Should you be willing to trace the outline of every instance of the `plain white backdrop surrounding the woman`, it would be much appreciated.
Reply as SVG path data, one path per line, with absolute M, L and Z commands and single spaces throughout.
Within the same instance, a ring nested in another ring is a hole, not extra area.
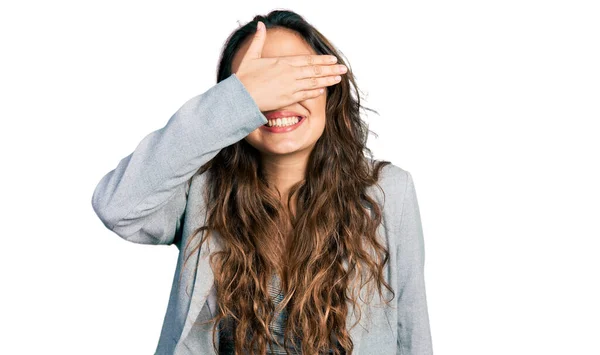
M 600 354 L 595 1 L 0 5 L 4 354 L 152 354 L 178 250 L 106 229 L 102 176 L 291 9 L 347 58 L 413 175 L 437 355 Z

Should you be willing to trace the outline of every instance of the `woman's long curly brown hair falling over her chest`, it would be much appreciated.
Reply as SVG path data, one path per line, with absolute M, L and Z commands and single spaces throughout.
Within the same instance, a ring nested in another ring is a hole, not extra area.
M 267 29 L 295 31 L 317 54 L 335 55 L 338 63 L 346 64 L 304 18 L 275 10 L 255 16 L 228 37 L 217 82 L 232 74 L 233 57 L 255 33 L 258 21 Z M 233 324 L 236 354 L 266 354 L 267 344 L 273 344 L 269 325 L 276 312 L 286 310 L 286 349 L 292 342 L 301 346 L 303 354 L 351 354 L 348 304 L 358 313 L 354 327 L 361 318 L 357 296 L 369 281 L 375 282 L 380 296 L 385 287 L 395 297 L 383 277 L 389 253 L 377 236 L 382 207 L 366 193 L 373 185 L 381 190 L 380 171 L 390 162 L 373 160 L 366 146 L 371 131 L 361 119 L 360 111 L 365 108 L 346 66 L 342 80 L 327 87 L 325 130 L 311 151 L 304 179 L 289 191 L 287 210 L 292 210 L 295 195 L 295 215 L 286 212 L 278 192 L 273 192 L 265 178 L 259 152 L 244 139 L 221 149 L 197 172 L 207 174 L 204 198 L 209 207 L 206 224 L 186 244 L 185 250 L 205 232 L 186 261 L 211 231 L 218 232 L 223 250 L 210 256 L 218 309 L 209 321 L 214 322 L 217 353 L 216 329 L 228 321 Z M 281 228 L 290 223 L 291 236 Z M 289 244 L 283 242 L 288 239 Z M 268 288 L 274 274 L 285 296 L 277 309 Z

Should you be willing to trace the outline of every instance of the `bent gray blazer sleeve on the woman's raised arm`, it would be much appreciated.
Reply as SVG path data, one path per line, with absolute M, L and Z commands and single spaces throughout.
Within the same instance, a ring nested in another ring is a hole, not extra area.
M 173 244 L 180 232 L 191 178 L 224 147 L 267 123 L 232 74 L 189 99 L 167 124 L 145 136 L 92 194 L 103 224 L 139 244 Z

